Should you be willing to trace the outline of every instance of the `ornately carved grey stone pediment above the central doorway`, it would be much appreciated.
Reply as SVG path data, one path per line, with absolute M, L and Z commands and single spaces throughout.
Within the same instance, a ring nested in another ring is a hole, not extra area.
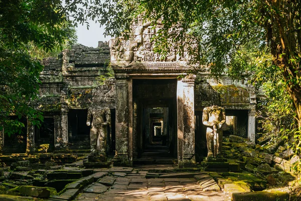
M 129 39 L 123 37 L 111 39 L 109 42 L 111 50 L 111 62 L 181 62 L 188 64 L 190 56 L 188 48 L 184 52 L 177 51 L 171 44 L 170 51 L 167 55 L 160 55 L 154 52 L 155 42 L 154 36 L 162 28 L 161 25 L 157 27 L 150 26 L 150 23 L 142 23 L 142 20 L 137 20 L 132 24 L 132 33 Z M 193 48 L 196 44 L 190 43 Z

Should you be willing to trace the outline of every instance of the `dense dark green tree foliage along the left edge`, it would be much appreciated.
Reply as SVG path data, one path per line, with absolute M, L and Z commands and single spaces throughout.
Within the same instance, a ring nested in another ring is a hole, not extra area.
M 58 3 L 0 1 L 0 129 L 4 125 L 9 135 L 21 132 L 21 118 L 28 118 L 34 125 L 43 120 L 42 114 L 28 104 L 36 97 L 43 70 L 35 59 L 37 52 L 49 52 L 70 37 L 68 19 L 58 10 Z M 18 119 L 10 118 L 12 115 Z

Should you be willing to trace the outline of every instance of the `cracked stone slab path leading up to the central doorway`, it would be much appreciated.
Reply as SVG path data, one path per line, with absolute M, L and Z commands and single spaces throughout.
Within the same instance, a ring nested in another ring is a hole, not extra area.
M 84 188 L 75 200 L 231 200 L 221 190 L 204 191 L 194 178 L 201 172 L 152 173 L 122 167 L 107 171 L 106 176 Z

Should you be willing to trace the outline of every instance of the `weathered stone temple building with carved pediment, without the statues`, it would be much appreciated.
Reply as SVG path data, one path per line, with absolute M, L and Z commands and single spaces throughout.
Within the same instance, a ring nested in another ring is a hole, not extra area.
M 31 103 L 44 113 L 41 128 L 26 122 L 22 135 L 4 136 L 0 149 L 8 153 L 89 149 L 88 108 L 108 107 L 111 129 L 106 152 L 115 151 L 114 164 L 132 166 L 145 158 L 164 158 L 179 167 L 207 155 L 202 111 L 226 110 L 224 134 L 255 142 L 256 94 L 247 80 L 216 80 L 207 69 L 189 74 L 188 53 L 171 49 L 164 58 L 150 39 L 157 29 L 133 26 L 129 40 L 99 42 L 65 50 L 59 58 L 43 60 L 39 99 Z M 99 75 L 111 65 L 114 77 L 100 85 Z M 180 77 L 180 78 L 179 78 Z

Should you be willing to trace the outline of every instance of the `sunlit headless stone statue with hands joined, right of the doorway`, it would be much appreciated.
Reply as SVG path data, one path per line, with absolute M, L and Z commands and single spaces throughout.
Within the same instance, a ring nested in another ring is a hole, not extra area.
M 226 122 L 225 109 L 219 106 L 204 108 L 203 124 L 207 126 L 206 138 L 208 157 L 216 158 L 222 151 L 223 130 Z

